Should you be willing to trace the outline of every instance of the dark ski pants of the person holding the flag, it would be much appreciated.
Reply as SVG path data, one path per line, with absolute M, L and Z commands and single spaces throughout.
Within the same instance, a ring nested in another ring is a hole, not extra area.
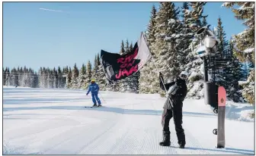
M 176 130 L 176 135 L 178 138 L 178 144 L 181 142 L 186 144 L 185 142 L 185 134 L 184 129 L 182 128 L 182 107 L 174 108 L 174 109 L 164 109 L 162 113 L 162 127 L 163 127 L 163 142 L 170 142 L 170 129 L 169 122 L 171 117 L 174 118 L 174 126 Z

